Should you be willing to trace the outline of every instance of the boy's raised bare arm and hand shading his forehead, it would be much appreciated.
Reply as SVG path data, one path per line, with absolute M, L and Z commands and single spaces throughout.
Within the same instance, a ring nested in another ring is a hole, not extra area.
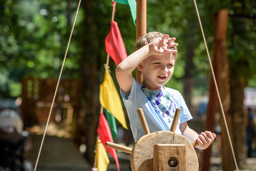
M 169 43 L 175 40 L 175 38 L 168 38 L 168 35 L 164 35 L 159 39 L 147 44 L 139 50 L 133 52 L 127 58 L 123 60 L 116 67 L 116 78 L 120 88 L 124 93 L 129 96 L 132 87 L 131 72 L 148 56 L 151 55 L 164 55 L 166 53 L 177 53 L 177 50 L 172 50 L 170 47 L 178 46 L 177 43 Z

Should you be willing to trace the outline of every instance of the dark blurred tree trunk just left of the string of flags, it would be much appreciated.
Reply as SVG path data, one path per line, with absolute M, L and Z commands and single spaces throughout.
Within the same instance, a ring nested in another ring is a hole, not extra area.
M 94 150 L 97 138 L 97 125 L 100 114 L 100 103 L 99 103 L 99 49 L 98 42 L 104 42 L 104 38 L 99 38 L 96 28 L 95 15 L 93 13 L 91 0 L 84 0 L 83 7 L 86 13 L 84 21 L 84 41 L 83 41 L 83 63 L 82 63 L 82 75 L 83 75 L 83 87 L 85 90 L 86 99 L 86 153 L 85 157 L 94 164 Z

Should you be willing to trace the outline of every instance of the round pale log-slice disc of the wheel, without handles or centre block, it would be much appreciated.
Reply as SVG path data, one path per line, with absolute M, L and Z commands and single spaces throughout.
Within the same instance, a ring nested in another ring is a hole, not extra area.
M 198 171 L 198 158 L 193 146 L 186 137 L 170 131 L 153 132 L 140 137 L 133 145 L 131 168 L 133 171 L 153 170 L 154 144 L 184 144 L 187 146 L 187 169 Z

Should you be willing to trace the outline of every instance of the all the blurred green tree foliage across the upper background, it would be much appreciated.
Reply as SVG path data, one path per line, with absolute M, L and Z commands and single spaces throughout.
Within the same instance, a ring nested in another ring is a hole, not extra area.
M 112 3 L 91 1 L 86 8 L 83 1 L 79 9 L 75 30 L 72 35 L 63 78 L 81 77 L 85 60 L 96 65 L 101 74 L 106 61 L 104 39 L 110 28 Z M 78 1 L 8 0 L 0 2 L 0 97 L 19 96 L 18 86 L 25 75 L 41 78 L 57 78 L 62 66 L 67 42 L 70 36 Z M 238 11 L 239 6 L 246 10 Z M 255 2 L 230 0 L 197 2 L 210 54 L 213 46 L 213 17 L 220 9 L 229 9 L 230 14 L 255 15 Z M 89 10 L 90 9 L 90 10 Z M 159 30 L 176 37 L 178 59 L 168 87 L 182 91 L 185 74 L 187 46 L 195 48 L 193 57 L 194 87 L 208 90 L 209 64 L 202 40 L 200 26 L 193 1 L 147 1 L 147 30 Z M 89 18 L 94 16 L 94 18 Z M 133 25 L 128 5 L 116 5 L 115 21 L 123 36 L 127 54 L 134 51 L 136 26 Z M 91 22 L 91 23 L 88 23 Z M 92 34 L 92 32 L 94 34 Z M 90 33 L 90 34 L 88 34 Z M 249 80 L 249 86 L 256 87 L 255 75 L 255 20 L 230 19 L 228 35 L 228 55 L 231 66 L 242 63 L 241 79 Z M 95 56 L 90 59 L 90 56 Z M 115 63 L 109 61 L 110 70 L 115 71 Z M 103 77 L 100 76 L 101 79 Z

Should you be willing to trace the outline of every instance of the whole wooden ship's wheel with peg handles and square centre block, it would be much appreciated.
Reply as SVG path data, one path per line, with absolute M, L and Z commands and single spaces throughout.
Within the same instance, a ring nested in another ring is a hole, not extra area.
M 107 142 L 106 146 L 131 154 L 133 171 L 143 170 L 180 170 L 198 171 L 198 158 L 194 147 L 197 141 L 190 143 L 185 136 L 174 133 L 180 117 L 180 108 L 174 114 L 170 131 L 149 132 L 142 109 L 137 112 L 145 135 L 133 145 L 127 146 Z

